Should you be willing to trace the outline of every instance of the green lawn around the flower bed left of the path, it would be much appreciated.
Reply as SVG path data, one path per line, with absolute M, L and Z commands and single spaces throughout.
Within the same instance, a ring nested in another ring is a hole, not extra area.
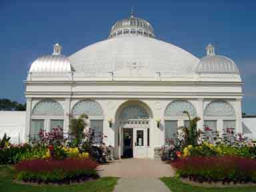
M 97 181 L 87 181 L 81 185 L 62 185 L 62 186 L 31 186 L 13 183 L 13 177 L 15 171 L 13 167 L 8 165 L 0 166 L 0 191 L 5 192 L 78 192 L 78 191 L 90 191 L 90 192 L 109 192 L 113 191 L 114 186 L 117 184 L 117 178 L 114 177 L 102 177 Z

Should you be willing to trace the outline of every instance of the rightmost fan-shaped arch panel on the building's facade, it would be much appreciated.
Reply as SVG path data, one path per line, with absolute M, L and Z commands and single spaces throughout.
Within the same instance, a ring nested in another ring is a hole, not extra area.
M 235 118 L 235 110 L 227 101 L 216 100 L 207 105 L 204 116 Z

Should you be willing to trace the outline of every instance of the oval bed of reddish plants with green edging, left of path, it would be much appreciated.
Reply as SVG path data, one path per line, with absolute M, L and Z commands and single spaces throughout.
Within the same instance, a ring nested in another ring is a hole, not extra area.
M 15 165 L 17 179 L 31 183 L 73 183 L 95 179 L 97 163 L 91 159 L 26 160 Z

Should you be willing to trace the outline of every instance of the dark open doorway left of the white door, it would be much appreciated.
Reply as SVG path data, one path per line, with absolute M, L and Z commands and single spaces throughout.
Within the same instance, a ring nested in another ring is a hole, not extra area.
M 123 129 L 123 157 L 133 158 L 133 129 Z

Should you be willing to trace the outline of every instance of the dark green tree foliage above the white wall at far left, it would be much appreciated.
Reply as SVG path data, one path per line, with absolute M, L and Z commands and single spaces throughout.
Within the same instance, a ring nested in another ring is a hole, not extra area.
M 21 104 L 10 99 L 0 99 L 0 111 L 26 111 L 26 103 Z

